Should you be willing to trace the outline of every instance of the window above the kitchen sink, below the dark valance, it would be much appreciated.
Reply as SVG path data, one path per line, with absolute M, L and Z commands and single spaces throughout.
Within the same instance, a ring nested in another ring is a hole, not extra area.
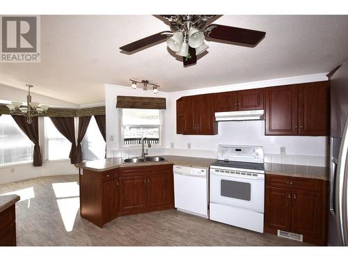
M 161 145 L 161 122 L 160 109 L 122 109 L 122 145 L 140 145 L 143 138 Z

